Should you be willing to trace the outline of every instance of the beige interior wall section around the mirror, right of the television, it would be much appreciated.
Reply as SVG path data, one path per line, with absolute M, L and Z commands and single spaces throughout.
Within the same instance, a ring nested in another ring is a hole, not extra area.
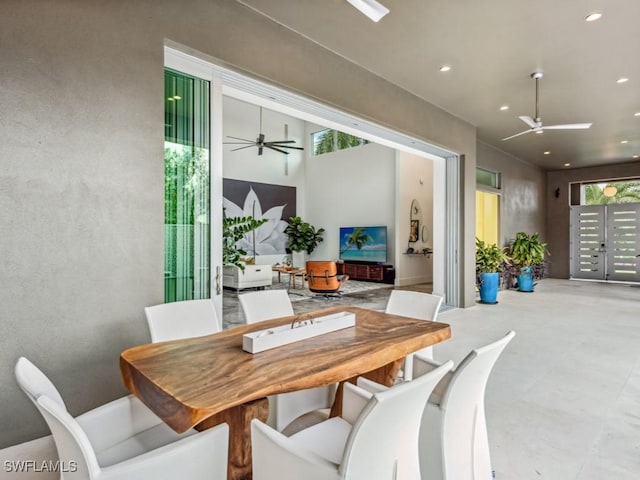
M 433 248 L 433 161 L 424 157 L 398 151 L 397 163 L 397 199 L 396 199 L 396 285 L 412 285 L 433 281 L 432 257 L 407 255 L 411 246 L 416 251 L 425 247 Z M 420 238 L 408 243 L 411 204 L 413 200 L 420 204 L 417 215 L 420 222 Z M 423 226 L 424 230 L 423 239 Z

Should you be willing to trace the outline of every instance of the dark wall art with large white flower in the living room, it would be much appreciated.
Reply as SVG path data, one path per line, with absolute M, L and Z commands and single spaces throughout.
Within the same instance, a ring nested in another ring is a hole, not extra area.
M 249 255 L 285 255 L 287 219 L 296 215 L 296 187 L 223 179 L 225 216 L 268 221 L 249 232 L 237 245 Z

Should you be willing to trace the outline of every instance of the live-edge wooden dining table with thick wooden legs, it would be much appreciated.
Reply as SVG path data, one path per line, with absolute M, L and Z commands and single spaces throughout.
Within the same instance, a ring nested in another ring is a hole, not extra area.
M 343 311 L 355 314 L 354 327 L 256 354 L 242 349 L 245 333 Z M 268 395 L 358 376 L 390 386 L 407 354 L 450 335 L 444 323 L 337 305 L 213 335 L 132 347 L 120 355 L 120 371 L 125 386 L 176 432 L 227 422 L 228 478 L 246 480 L 251 479 L 250 423 L 266 420 Z M 340 413 L 340 405 L 339 388 L 332 415 Z

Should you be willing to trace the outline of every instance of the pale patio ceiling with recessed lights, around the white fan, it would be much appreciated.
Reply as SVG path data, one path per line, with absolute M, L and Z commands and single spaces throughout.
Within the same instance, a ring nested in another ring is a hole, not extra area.
M 239 1 L 545 169 L 638 161 L 640 0 L 380 0 L 390 13 L 378 23 L 346 0 Z M 602 18 L 585 22 L 592 11 Z M 545 125 L 592 127 L 501 141 L 528 128 L 519 116 L 535 116 L 534 71 L 544 72 Z

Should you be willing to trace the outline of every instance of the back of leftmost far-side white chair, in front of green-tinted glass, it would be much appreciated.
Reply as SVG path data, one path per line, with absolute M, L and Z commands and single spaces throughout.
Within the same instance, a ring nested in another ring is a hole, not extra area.
M 211 299 L 184 300 L 145 307 L 151 341 L 201 337 L 221 331 Z

